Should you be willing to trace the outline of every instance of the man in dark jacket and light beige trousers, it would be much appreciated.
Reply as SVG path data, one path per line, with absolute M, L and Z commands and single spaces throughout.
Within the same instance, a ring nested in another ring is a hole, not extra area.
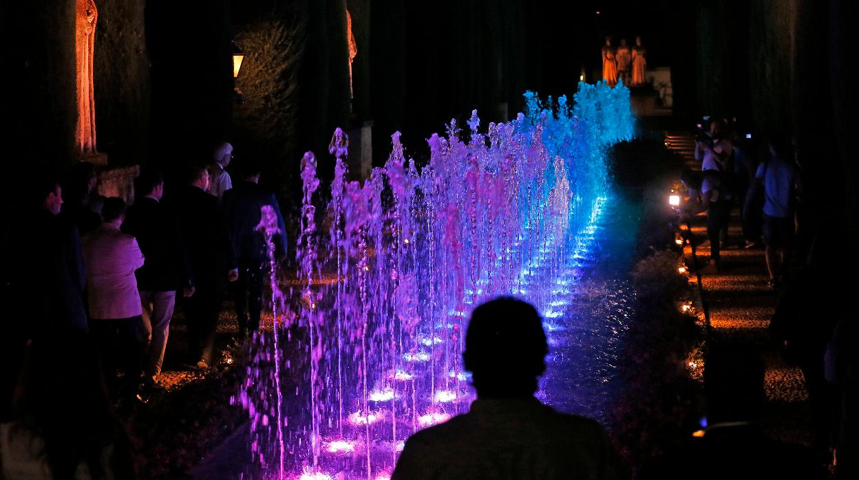
M 144 384 L 159 387 L 158 376 L 167 349 L 176 292 L 193 294 L 191 265 L 173 212 L 161 204 L 164 179 L 144 170 L 135 181 L 137 201 L 125 212 L 122 231 L 137 239 L 146 263 L 135 272 L 143 305 L 143 338 L 148 358 L 143 362 Z

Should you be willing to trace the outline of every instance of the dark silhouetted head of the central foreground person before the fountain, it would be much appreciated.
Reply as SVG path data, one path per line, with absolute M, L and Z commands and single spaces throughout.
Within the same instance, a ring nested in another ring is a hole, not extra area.
M 478 398 L 516 398 L 537 391 L 548 352 L 537 310 L 500 297 L 474 309 L 462 358 Z

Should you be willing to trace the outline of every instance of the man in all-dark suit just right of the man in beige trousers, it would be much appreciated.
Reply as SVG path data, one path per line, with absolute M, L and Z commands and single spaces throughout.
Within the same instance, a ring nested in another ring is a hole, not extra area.
M 225 280 L 235 282 L 233 249 L 229 245 L 217 197 L 206 193 L 209 171 L 192 168 L 191 183 L 176 193 L 174 209 L 185 238 L 194 294 L 186 299 L 188 348 L 198 368 L 209 368 L 215 347 L 218 313 L 227 294 Z

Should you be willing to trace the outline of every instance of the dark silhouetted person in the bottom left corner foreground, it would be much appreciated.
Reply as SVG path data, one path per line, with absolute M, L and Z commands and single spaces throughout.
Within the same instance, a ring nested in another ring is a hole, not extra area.
M 0 423 L 0 478 L 135 478 L 88 336 L 40 337 L 23 356 L 14 419 Z

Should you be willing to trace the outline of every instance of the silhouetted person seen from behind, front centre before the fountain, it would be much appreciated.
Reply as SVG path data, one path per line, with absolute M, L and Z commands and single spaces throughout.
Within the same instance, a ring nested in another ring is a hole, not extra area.
M 530 304 L 503 297 L 475 308 L 462 357 L 478 399 L 468 413 L 411 435 L 393 480 L 617 477 L 598 422 L 534 398 L 547 353 Z

